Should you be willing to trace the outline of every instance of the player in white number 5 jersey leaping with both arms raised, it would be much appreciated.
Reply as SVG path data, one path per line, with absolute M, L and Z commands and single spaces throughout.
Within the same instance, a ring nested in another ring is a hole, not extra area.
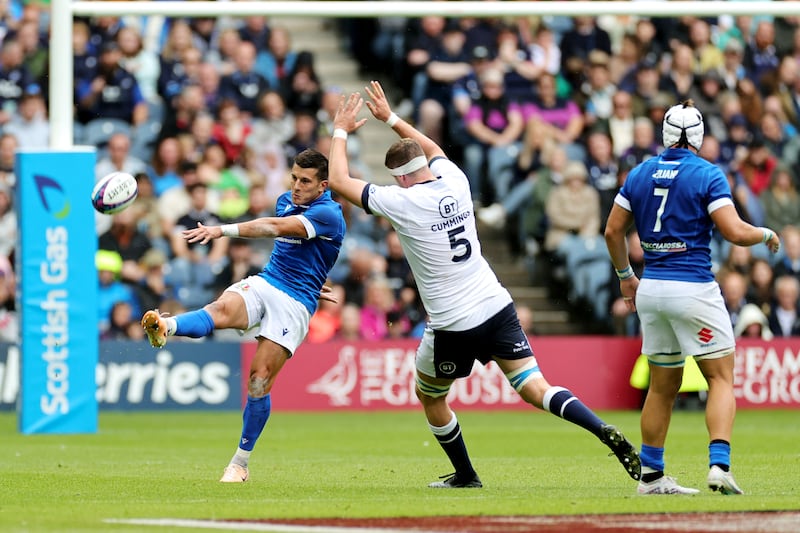
M 352 204 L 391 223 L 429 316 L 417 349 L 416 392 L 455 470 L 429 487 L 482 487 L 447 403 L 453 381 L 468 376 L 475 360 L 495 361 L 526 402 L 593 433 L 638 480 L 639 456 L 624 435 L 542 375 L 511 295 L 481 254 L 467 177 L 433 140 L 392 112 L 378 82 L 365 90 L 372 115 L 400 136 L 385 158 L 397 185 L 378 186 L 349 175 L 347 135 L 367 120 L 357 118 L 364 104 L 357 93 L 342 97 L 334 118 L 329 185 Z

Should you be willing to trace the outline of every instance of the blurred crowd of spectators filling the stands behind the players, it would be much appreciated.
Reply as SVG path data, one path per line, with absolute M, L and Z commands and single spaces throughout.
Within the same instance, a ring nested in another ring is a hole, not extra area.
M 800 334 L 799 23 L 428 16 L 337 29 L 361 74 L 390 79 L 398 112 L 465 169 L 479 221 L 504 228 L 512 254 L 543 268 L 592 332 L 638 334 L 612 281 L 605 217 L 627 171 L 663 149 L 664 111 L 693 99 L 701 156 L 729 176 L 742 217 L 781 228 L 778 256 L 723 239 L 712 249 L 737 333 L 769 338 Z M 18 339 L 14 151 L 48 145 L 48 32 L 42 4 L 0 5 L 0 340 Z M 120 170 L 139 184 L 131 208 L 97 215 L 98 328 L 141 339 L 144 310 L 199 308 L 260 270 L 269 240 L 187 244 L 180 231 L 273 214 L 293 156 L 328 153 L 341 90 L 263 16 L 76 18 L 73 49 L 75 142 L 98 147 L 97 178 Z M 373 147 L 348 146 L 351 172 L 371 179 L 360 152 Z M 396 234 L 340 203 L 347 235 L 329 280 L 339 303 L 320 303 L 309 342 L 420 335 L 425 312 Z M 641 269 L 635 232 L 629 242 Z M 530 309 L 519 312 L 535 331 Z

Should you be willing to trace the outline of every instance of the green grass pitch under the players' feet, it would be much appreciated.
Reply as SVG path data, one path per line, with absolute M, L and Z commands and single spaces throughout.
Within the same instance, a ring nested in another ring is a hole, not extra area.
M 602 416 L 639 444 L 638 413 Z M 744 497 L 705 486 L 702 412 L 676 412 L 668 474 L 702 490 L 641 497 L 592 435 L 536 411 L 461 412 L 483 489 L 433 490 L 451 471 L 422 412 L 277 410 L 251 458 L 251 480 L 217 480 L 239 413 L 103 413 L 96 435 L 20 435 L 0 414 L 0 531 L 131 531 L 105 518 L 267 519 L 539 515 L 800 508 L 796 411 L 741 411 L 734 472 Z M 157 531 L 159 528 L 153 528 Z M 163 528 L 161 528 L 163 529 Z M 184 530 L 184 531 L 188 531 Z

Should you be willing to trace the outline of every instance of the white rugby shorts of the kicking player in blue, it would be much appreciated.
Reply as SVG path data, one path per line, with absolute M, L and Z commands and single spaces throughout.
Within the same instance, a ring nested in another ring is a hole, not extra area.
M 308 310 L 261 276 L 250 276 L 225 290 L 244 299 L 247 329 L 258 326 L 256 335 L 280 344 L 289 350 L 289 357 L 306 338 L 311 319 Z

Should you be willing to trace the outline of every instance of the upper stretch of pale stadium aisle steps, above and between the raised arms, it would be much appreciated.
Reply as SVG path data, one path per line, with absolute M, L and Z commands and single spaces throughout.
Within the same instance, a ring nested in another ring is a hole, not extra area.
M 364 87 L 369 79 L 359 72 L 357 62 L 345 50 L 342 39 L 336 31 L 335 21 L 310 17 L 282 17 L 275 19 L 273 24 L 289 29 L 292 49 L 307 50 L 314 54 L 314 69 L 325 87 L 338 86 L 347 94 L 360 92 L 366 97 Z M 397 102 L 391 103 L 397 104 Z M 370 181 L 380 184 L 393 183 L 383 166 L 383 156 L 389 145 L 397 140 L 397 136 L 387 126 L 372 119 L 366 106 L 361 114 L 370 117 L 359 130 L 362 141 L 361 159 L 372 173 Z

